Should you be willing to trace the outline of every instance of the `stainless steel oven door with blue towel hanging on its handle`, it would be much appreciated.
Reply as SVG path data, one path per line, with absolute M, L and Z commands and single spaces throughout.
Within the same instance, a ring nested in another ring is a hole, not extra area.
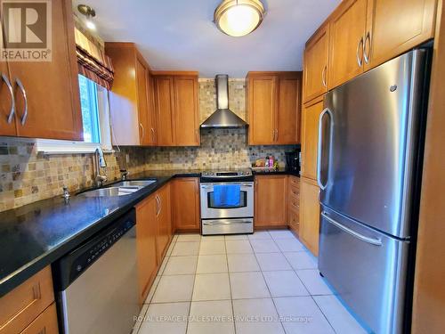
M 201 218 L 254 216 L 254 183 L 201 183 Z

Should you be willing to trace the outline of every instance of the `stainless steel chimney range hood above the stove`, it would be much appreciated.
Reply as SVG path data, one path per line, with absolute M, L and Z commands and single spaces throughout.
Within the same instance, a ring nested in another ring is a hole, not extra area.
M 202 128 L 212 127 L 245 127 L 247 123 L 229 109 L 229 76 L 217 74 L 214 77 L 216 85 L 216 110 L 202 124 Z

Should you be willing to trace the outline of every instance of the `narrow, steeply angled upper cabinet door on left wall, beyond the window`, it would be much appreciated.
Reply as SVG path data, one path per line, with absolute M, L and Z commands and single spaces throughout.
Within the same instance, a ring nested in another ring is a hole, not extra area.
M 147 69 L 143 62 L 136 58 L 136 94 L 139 116 L 139 140 L 141 145 L 151 144 L 150 121 L 149 121 L 149 100 L 147 89 Z

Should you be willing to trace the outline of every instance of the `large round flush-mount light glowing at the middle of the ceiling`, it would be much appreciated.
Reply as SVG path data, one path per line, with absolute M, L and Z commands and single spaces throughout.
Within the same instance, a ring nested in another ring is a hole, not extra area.
M 257 29 L 264 14 L 260 0 L 223 0 L 214 10 L 214 24 L 224 34 L 241 37 Z

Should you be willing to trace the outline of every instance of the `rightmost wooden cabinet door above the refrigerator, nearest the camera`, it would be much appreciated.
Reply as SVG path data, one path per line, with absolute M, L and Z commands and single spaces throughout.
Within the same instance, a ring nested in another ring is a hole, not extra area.
M 368 0 L 366 69 L 433 38 L 435 0 Z

